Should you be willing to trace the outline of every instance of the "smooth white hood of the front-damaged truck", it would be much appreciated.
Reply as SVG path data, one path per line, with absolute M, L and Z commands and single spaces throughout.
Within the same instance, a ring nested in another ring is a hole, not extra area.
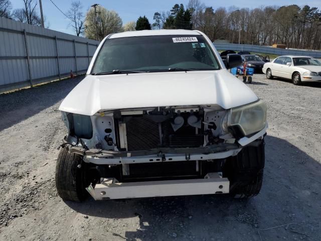
M 59 109 L 93 115 L 100 110 L 218 104 L 224 109 L 258 98 L 226 69 L 216 71 L 88 75 Z

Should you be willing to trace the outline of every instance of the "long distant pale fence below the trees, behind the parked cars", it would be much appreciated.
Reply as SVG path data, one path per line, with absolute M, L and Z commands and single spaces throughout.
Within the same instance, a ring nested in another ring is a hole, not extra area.
M 249 51 L 256 53 L 275 54 L 275 55 L 304 55 L 314 58 L 321 58 L 321 51 L 312 50 L 294 50 L 294 49 L 279 49 L 268 46 L 258 46 L 249 44 L 223 44 L 214 43 L 217 50 L 234 50 L 234 51 Z

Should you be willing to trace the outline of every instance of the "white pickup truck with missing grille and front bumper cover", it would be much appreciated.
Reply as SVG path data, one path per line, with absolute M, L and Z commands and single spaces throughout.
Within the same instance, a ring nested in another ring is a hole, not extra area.
M 200 31 L 108 35 L 60 105 L 65 200 L 227 194 L 263 180 L 266 105 Z

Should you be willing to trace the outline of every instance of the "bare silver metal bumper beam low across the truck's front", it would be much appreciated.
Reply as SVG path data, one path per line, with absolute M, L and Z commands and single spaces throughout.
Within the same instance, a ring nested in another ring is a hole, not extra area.
M 95 200 L 141 197 L 185 196 L 229 193 L 230 182 L 219 173 L 208 173 L 204 179 L 118 183 L 104 179 L 86 190 Z

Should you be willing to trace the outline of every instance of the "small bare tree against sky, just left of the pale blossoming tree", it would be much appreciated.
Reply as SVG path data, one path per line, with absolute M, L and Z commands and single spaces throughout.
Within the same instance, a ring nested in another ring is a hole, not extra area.
M 71 27 L 75 30 L 76 35 L 80 36 L 84 32 L 84 14 L 82 13 L 82 5 L 80 1 L 71 3 L 71 7 L 67 12 L 67 16 L 71 21 Z

